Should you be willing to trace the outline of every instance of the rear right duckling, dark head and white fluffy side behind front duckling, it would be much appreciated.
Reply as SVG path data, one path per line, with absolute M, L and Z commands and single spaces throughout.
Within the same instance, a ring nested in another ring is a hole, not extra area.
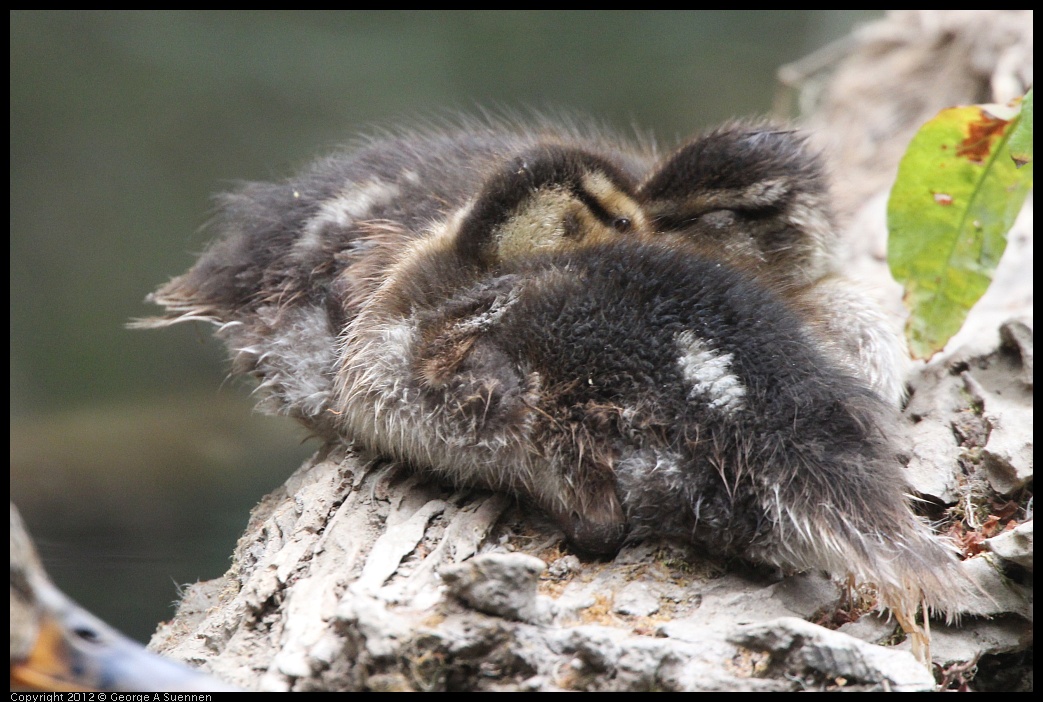
M 638 199 L 663 237 L 765 280 L 820 348 L 898 406 L 905 343 L 871 291 L 838 271 L 824 173 L 800 134 L 739 122 L 681 146 L 641 184 Z

